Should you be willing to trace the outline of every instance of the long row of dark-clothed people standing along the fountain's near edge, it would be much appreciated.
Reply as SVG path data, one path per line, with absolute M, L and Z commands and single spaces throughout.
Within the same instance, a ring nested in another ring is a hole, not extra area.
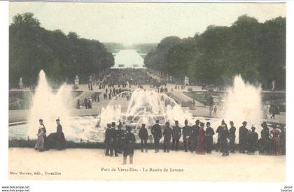
M 263 122 L 260 137 L 255 132 L 255 127 L 252 126 L 249 131 L 247 122 L 244 121 L 239 127 L 239 144 L 236 144 L 237 128 L 233 121 L 230 121 L 230 128 L 224 120 L 221 125 L 216 128 L 211 127 L 210 122 L 206 123 L 196 120 L 193 126 L 188 125 L 185 120 L 185 126 L 180 127 L 179 121 L 174 122 L 174 126 L 170 126 L 166 122 L 164 126 L 159 124 L 159 120 L 151 127 L 151 135 L 153 138 L 155 153 L 160 152 L 160 140 L 163 138 L 163 152 L 169 153 L 170 150 L 179 151 L 180 139 L 183 140 L 184 152 L 196 154 L 211 154 L 213 150 L 221 152 L 222 156 L 229 156 L 230 153 L 235 153 L 239 148 L 241 154 L 255 154 L 259 152 L 261 155 L 285 155 L 286 154 L 286 128 L 273 126 L 269 131 L 266 122 Z M 280 130 L 281 131 L 280 131 Z M 217 134 L 217 142 L 214 145 L 213 137 Z M 141 124 L 138 134 L 141 140 L 141 152 L 148 152 L 148 140 L 151 136 L 146 128 L 146 124 Z M 105 132 L 106 156 L 118 156 L 118 153 L 123 153 L 123 163 L 127 162 L 127 156 L 130 156 L 130 163 L 133 162 L 134 147 L 136 139 L 132 128 L 125 126 L 120 122 L 116 126 L 115 122 L 107 124 Z

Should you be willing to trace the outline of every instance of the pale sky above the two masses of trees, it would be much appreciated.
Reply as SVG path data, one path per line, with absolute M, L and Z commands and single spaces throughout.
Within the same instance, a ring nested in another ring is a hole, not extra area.
M 194 36 L 211 24 L 230 26 L 244 14 L 259 22 L 286 17 L 286 4 L 10 2 L 9 22 L 25 12 L 34 13 L 45 29 L 130 45 L 159 43 L 166 36 Z

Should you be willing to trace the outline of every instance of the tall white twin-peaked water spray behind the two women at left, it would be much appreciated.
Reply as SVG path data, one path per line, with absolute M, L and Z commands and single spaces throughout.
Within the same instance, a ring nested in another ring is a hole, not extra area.
M 71 98 L 70 91 L 66 91 L 66 85 L 53 93 L 48 85 L 43 70 L 38 75 L 38 86 L 32 100 L 29 115 L 29 129 L 27 135 L 31 139 L 36 138 L 38 133 L 38 119 L 43 119 L 47 134 L 56 132 L 55 119 L 59 118 L 64 127 L 64 134 L 70 135 L 69 110 L 66 108 L 66 101 Z

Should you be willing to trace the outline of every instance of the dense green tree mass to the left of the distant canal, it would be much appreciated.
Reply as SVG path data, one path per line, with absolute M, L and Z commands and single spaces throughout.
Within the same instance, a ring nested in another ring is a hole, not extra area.
M 113 55 L 98 40 L 44 29 L 33 13 L 15 15 L 9 26 L 10 87 L 17 87 L 20 77 L 26 86 L 36 84 L 41 69 L 54 85 L 73 83 L 76 75 L 87 82 L 113 65 Z

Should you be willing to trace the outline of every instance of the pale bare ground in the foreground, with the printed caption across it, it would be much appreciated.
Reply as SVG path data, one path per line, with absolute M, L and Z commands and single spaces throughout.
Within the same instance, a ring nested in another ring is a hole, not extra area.
M 205 182 L 284 182 L 286 179 L 285 156 L 239 153 L 223 157 L 218 152 L 197 155 L 172 151 L 167 154 L 160 150 L 155 154 L 154 150 L 149 150 L 146 154 L 135 150 L 134 164 L 123 165 L 121 154 L 119 157 L 104 156 L 104 149 L 50 150 L 40 153 L 29 148 L 10 148 L 8 161 L 9 179 Z M 109 171 L 111 168 L 116 171 Z M 167 171 L 164 172 L 165 168 Z M 12 175 L 10 171 L 18 174 Z M 31 172 L 31 175 L 20 175 L 20 171 Z M 34 175 L 36 171 L 40 175 Z M 45 172 L 58 172 L 60 175 L 46 175 Z

